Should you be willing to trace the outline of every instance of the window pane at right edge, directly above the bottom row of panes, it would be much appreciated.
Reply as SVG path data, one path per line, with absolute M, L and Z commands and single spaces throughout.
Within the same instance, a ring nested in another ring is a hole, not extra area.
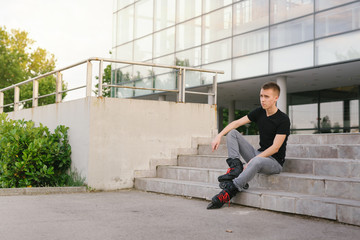
M 360 29 L 360 3 L 319 13 L 315 24 L 317 38 Z

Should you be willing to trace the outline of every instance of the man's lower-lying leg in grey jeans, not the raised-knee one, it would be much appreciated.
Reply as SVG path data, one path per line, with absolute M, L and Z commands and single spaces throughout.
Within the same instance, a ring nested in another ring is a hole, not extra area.
M 259 152 L 260 153 L 260 152 Z M 241 191 L 244 189 L 246 183 L 254 178 L 256 173 L 264 174 L 279 174 L 282 171 L 282 166 L 272 157 L 254 157 L 246 169 L 233 180 L 236 188 Z

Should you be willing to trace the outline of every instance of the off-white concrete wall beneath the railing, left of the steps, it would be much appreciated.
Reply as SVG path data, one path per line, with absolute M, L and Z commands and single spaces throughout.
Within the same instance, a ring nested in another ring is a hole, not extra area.
M 133 187 L 134 172 L 150 170 L 152 159 L 171 159 L 193 137 L 216 132 L 216 107 L 115 98 L 84 98 L 10 113 L 54 129 L 66 125 L 73 168 L 96 189 Z

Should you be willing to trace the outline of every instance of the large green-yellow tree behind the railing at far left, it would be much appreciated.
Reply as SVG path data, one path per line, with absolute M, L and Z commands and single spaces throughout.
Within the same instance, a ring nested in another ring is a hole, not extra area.
M 10 30 L 0 27 L 0 89 L 55 69 L 55 56 L 43 48 L 33 49 L 34 40 L 28 33 L 21 30 Z M 39 80 L 39 95 L 55 92 L 56 78 L 48 76 Z M 20 100 L 32 98 L 32 83 L 20 87 Z M 63 83 L 63 90 L 67 84 Z M 63 97 L 66 94 L 63 93 Z M 4 104 L 14 102 L 14 91 L 4 92 Z M 55 102 L 55 96 L 39 99 L 39 105 Z M 31 101 L 24 103 L 23 107 L 31 107 Z M 11 111 L 8 107 L 5 111 Z

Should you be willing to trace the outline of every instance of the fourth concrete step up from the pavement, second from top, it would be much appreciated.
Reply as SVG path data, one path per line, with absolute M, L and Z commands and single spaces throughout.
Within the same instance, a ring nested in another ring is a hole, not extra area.
M 227 156 L 226 144 L 212 152 L 210 145 L 199 145 L 199 155 Z M 345 158 L 360 160 L 360 144 L 288 144 L 286 157 Z

